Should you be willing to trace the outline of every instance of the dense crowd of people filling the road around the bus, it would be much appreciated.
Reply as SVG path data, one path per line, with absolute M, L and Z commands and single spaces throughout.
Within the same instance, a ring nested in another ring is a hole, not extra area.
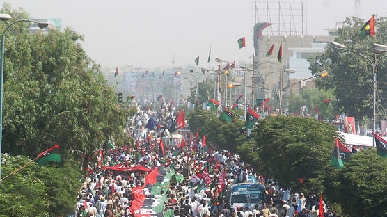
M 137 117 L 143 123 L 147 121 L 143 116 L 151 116 L 145 113 Z M 197 136 L 191 134 L 190 138 L 182 138 L 187 141 L 184 146 L 177 139 L 164 145 L 163 134 L 157 130 L 132 130 L 132 136 L 136 142 L 135 147 L 124 146 L 103 153 L 96 152 L 96 160 L 90 160 L 89 172 L 79 191 L 74 216 L 319 216 L 319 200 L 313 193 L 307 196 L 294 193 L 275 179 L 255 171 L 237 154 L 208 147 Z M 139 166 L 141 170 L 109 169 Z M 166 197 L 162 204 L 157 204 L 155 199 L 151 204 L 144 202 L 143 207 L 137 209 L 139 189 L 141 197 L 150 197 L 149 191 L 148 195 L 143 195 L 143 192 L 151 183 L 150 173 L 159 168 L 173 170 L 173 174 L 182 179 L 168 180 L 170 183 L 160 192 L 160 195 Z M 205 174 L 210 181 L 204 180 Z M 228 186 L 237 182 L 251 182 L 250 177 L 264 185 L 267 200 L 254 207 L 232 207 L 228 202 Z M 160 205 L 160 212 L 144 212 Z M 324 216 L 335 215 L 329 207 L 325 207 Z

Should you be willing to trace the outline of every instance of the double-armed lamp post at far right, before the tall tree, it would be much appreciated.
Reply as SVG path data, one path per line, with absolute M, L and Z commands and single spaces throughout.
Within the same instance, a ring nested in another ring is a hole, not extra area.
M 379 45 L 379 44 L 373 44 L 373 47 L 372 47 L 372 52 L 375 54 L 374 55 L 374 61 L 371 60 L 371 58 L 368 58 L 368 56 L 365 56 L 363 54 L 359 54 L 359 53 L 356 53 L 355 51 L 352 51 L 350 49 L 348 49 L 347 46 L 345 45 L 341 45 L 340 43 L 338 42 L 331 42 L 329 43 L 329 46 L 330 47 L 333 47 L 335 49 L 340 49 L 340 50 L 343 50 L 343 51 L 348 51 L 349 53 L 352 53 L 352 54 L 356 54 L 357 56 L 361 56 L 363 58 L 365 58 L 368 62 L 370 62 L 370 64 L 372 65 L 372 74 L 374 75 L 374 99 L 373 99 L 373 110 L 372 110 L 372 124 L 373 124 L 373 131 L 375 131 L 377 129 L 377 117 L 376 117 L 376 107 L 377 107 L 377 66 L 379 64 L 379 62 L 386 58 L 387 56 L 382 56 L 381 58 L 379 58 L 379 60 L 377 60 L 377 56 L 376 54 L 384 54 L 387 52 L 387 46 L 386 45 Z M 375 147 L 375 141 L 372 140 L 372 147 Z

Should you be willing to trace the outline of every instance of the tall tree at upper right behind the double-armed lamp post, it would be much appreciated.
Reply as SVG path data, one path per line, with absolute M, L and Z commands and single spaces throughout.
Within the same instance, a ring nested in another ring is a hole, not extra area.
M 342 28 L 338 29 L 336 42 L 348 47 L 349 50 L 361 54 L 374 61 L 371 52 L 372 43 L 384 44 L 387 40 L 387 18 L 376 17 L 376 37 L 368 37 L 365 40 L 359 38 L 359 30 L 365 24 L 365 20 L 356 17 L 345 19 Z M 381 58 L 380 55 L 375 56 Z M 354 116 L 356 120 L 363 117 L 372 118 L 373 113 L 373 82 L 372 64 L 366 58 L 352 54 L 349 51 L 341 51 L 326 47 L 324 53 L 309 58 L 310 70 L 328 70 L 330 79 L 320 79 L 316 82 L 318 87 L 333 88 L 335 90 L 336 102 L 340 112 Z M 387 81 L 387 59 L 379 62 L 377 69 L 378 97 L 377 97 L 377 120 L 386 119 L 385 106 L 381 99 L 387 97 L 387 86 L 382 85 Z

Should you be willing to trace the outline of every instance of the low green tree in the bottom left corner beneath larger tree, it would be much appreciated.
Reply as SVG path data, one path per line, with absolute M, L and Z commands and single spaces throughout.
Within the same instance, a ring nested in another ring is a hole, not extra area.
M 2 178 L 31 163 L 25 156 L 3 154 Z M 79 163 L 41 168 L 31 163 L 0 183 L 0 216 L 58 216 L 71 214 L 81 186 Z

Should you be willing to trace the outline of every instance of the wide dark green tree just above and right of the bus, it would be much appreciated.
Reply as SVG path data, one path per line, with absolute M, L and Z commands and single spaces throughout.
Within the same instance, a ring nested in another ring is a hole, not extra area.
M 268 117 L 253 129 L 262 172 L 294 191 L 315 193 L 324 189 L 337 134 L 331 124 L 293 116 Z

